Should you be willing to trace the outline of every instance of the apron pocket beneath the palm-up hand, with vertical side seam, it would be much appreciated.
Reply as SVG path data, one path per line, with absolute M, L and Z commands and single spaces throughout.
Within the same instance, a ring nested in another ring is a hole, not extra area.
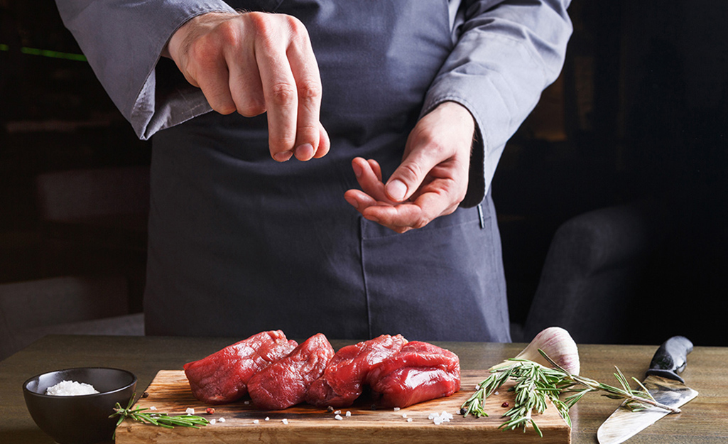
M 500 239 L 489 201 L 397 234 L 362 220 L 371 336 L 508 341 Z M 481 225 L 484 224 L 484 228 Z

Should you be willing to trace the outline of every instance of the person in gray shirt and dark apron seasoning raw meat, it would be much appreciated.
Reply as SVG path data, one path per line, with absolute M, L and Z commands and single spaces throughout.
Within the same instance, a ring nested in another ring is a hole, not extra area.
M 57 0 L 153 138 L 153 335 L 510 341 L 490 182 L 569 0 Z

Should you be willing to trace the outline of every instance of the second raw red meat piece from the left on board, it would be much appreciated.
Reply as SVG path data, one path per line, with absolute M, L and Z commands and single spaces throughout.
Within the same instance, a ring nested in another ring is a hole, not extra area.
M 323 334 L 308 338 L 282 360 L 259 371 L 248 381 L 248 394 L 257 408 L 282 410 L 304 402 L 306 392 L 333 357 Z

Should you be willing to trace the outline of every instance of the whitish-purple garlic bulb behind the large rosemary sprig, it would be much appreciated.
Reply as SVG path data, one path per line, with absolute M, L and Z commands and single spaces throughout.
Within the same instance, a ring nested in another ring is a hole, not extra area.
M 579 365 L 579 350 L 568 331 L 561 327 L 549 327 L 542 330 L 531 341 L 531 344 L 516 355 L 515 359 L 534 361 L 545 367 L 550 367 L 550 363 L 541 356 L 539 349 L 542 349 L 548 357 L 564 370 L 574 375 L 579 374 L 581 368 Z M 510 365 L 513 365 L 513 361 L 504 361 L 491 367 L 491 370 L 506 368 Z

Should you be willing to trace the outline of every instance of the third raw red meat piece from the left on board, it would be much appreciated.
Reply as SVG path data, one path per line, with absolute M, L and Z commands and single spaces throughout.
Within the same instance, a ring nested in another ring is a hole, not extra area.
M 339 349 L 311 384 L 306 402 L 318 407 L 346 407 L 362 394 L 369 370 L 400 351 L 407 340 L 400 335 L 382 335 Z

